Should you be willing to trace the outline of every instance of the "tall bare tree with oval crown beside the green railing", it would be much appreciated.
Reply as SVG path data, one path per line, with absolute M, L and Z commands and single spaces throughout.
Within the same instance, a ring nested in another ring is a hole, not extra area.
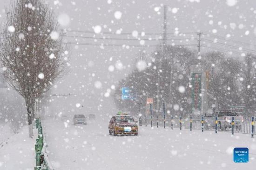
M 54 11 L 41 0 L 13 0 L 6 9 L 0 63 L 7 83 L 25 99 L 30 138 L 33 104 L 68 72 L 69 46 L 58 26 Z

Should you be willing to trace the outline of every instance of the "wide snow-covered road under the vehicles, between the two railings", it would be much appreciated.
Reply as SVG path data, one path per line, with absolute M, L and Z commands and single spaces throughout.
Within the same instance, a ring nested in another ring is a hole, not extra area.
M 43 120 L 55 170 L 252 170 L 256 139 L 247 134 L 139 126 L 138 136 L 109 136 L 108 117 L 73 125 Z M 249 148 L 249 163 L 234 163 L 233 149 Z

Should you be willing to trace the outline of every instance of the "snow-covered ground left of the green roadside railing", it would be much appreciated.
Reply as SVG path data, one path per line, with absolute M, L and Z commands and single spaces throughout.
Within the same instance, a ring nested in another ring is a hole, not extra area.
M 14 134 L 9 124 L 0 124 L 0 170 L 34 170 L 37 129 L 28 138 L 28 126 Z

